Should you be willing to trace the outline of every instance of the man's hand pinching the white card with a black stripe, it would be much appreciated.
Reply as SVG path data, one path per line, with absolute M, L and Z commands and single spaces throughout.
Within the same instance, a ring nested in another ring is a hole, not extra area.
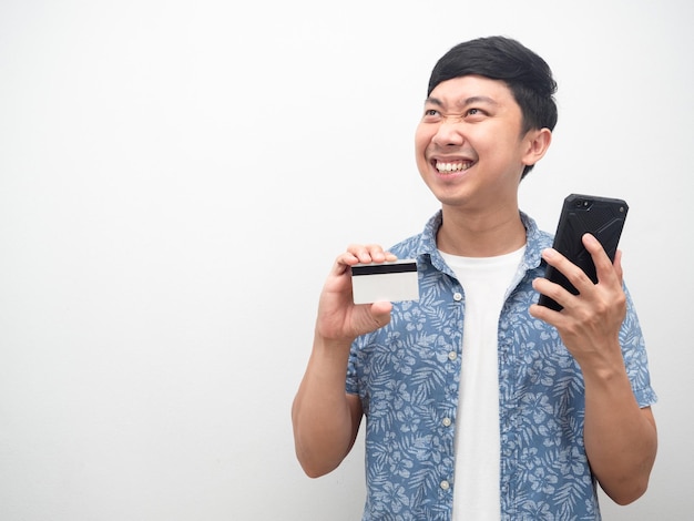
M 351 245 L 335 260 L 320 294 L 316 334 L 327 340 L 349 341 L 390 321 L 392 304 L 355 305 L 350 267 L 358 263 L 385 263 L 397 257 L 379 245 Z

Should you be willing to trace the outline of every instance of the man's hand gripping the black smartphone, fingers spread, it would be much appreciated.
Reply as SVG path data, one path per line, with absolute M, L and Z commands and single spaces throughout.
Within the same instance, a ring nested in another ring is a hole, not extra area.
M 583 236 L 583 245 L 595 264 L 598 284 L 559 252 L 548 248 L 542 253 L 544 260 L 559 269 L 579 295 L 545 278 L 537 278 L 534 289 L 557 300 L 563 309 L 554 311 L 534 304 L 530 314 L 558 329 L 562 341 L 582 367 L 588 361 L 612 364 L 619 360 L 621 364 L 619 333 L 626 315 L 622 255 L 618 251 L 612 264 L 602 245 L 590 234 Z

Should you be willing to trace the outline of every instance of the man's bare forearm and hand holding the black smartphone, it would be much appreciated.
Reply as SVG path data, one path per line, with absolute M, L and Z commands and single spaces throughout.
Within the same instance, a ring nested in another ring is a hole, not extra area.
M 567 349 L 581 367 L 585 384 L 585 452 L 600 486 L 619 504 L 639 499 L 646 490 L 655 461 L 657 435 L 651 408 L 641 409 L 629 381 L 619 341 L 626 314 L 622 289 L 621 253 L 610 263 L 600 243 L 583 237 L 598 273 L 598 284 L 553 249 L 548 264 L 579 289 L 574 296 L 539 278 L 533 286 L 564 306 L 554 311 L 533 305 L 530 314 L 557 327 Z

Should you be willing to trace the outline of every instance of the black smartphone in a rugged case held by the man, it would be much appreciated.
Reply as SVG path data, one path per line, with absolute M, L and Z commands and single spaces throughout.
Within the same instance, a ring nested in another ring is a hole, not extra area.
M 626 212 L 629 206 L 619 198 L 571 194 L 564 200 L 552 247 L 583 269 L 593 283 L 598 283 L 595 265 L 581 237 L 585 233 L 595 236 L 610 260 L 614 260 Z M 552 266 L 547 267 L 544 278 L 560 284 L 574 295 L 579 294 L 569 279 Z M 561 305 L 545 295 L 540 295 L 538 304 L 558 311 L 562 309 Z

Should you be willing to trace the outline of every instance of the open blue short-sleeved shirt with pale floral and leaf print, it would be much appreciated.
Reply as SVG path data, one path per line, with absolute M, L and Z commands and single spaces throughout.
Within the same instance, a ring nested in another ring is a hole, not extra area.
M 501 519 L 600 520 L 583 446 L 581 370 L 557 329 L 528 313 L 552 237 L 521 218 L 527 248 L 499 319 Z M 440 224 L 439 212 L 391 248 L 417 259 L 419 300 L 394 304 L 390 324 L 351 348 L 346 389 L 366 416 L 363 521 L 451 519 L 465 295 L 437 251 Z M 620 340 L 634 395 L 650 406 L 656 397 L 629 294 Z

